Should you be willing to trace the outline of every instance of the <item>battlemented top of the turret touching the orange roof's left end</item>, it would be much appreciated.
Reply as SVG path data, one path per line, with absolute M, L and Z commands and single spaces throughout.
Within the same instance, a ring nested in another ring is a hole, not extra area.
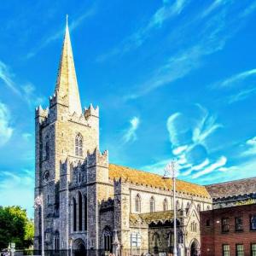
M 87 152 L 87 168 L 92 166 L 102 166 L 108 168 L 108 150 L 103 153 L 99 148 L 95 148 L 92 153 Z

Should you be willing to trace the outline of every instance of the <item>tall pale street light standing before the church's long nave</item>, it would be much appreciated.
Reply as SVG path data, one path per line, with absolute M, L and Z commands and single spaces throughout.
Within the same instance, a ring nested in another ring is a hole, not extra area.
M 165 168 L 164 177 L 172 177 L 173 183 L 173 212 L 174 212 L 174 236 L 173 236 L 173 256 L 177 256 L 177 239 L 176 239 L 176 177 L 177 177 L 178 167 L 177 161 L 172 160 L 167 164 Z

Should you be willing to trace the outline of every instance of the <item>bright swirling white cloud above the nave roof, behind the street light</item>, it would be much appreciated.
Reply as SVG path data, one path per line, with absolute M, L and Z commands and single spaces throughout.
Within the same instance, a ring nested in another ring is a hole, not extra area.
M 223 125 L 206 108 L 198 104 L 195 107 L 196 114 L 177 112 L 166 121 L 172 143 L 172 156 L 177 158 L 180 177 L 195 179 L 205 177 L 211 172 L 227 172 L 230 170 L 230 166 L 226 166 L 227 157 L 220 155 L 216 158 L 207 147 L 207 140 Z M 171 157 L 142 168 L 150 172 L 163 172 L 170 160 Z

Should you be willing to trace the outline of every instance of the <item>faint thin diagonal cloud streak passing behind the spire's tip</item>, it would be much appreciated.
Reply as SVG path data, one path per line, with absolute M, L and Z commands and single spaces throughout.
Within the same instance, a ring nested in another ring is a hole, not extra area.
M 69 26 L 69 31 L 72 32 L 74 29 L 83 24 L 84 20 L 89 19 L 93 15 L 96 15 L 96 4 L 93 5 L 90 9 L 88 9 L 84 14 L 79 15 L 75 20 L 73 20 Z M 32 49 L 27 55 L 26 58 L 32 58 L 34 55 L 37 55 L 41 49 L 44 49 L 49 44 L 55 42 L 55 40 L 62 38 L 64 35 L 64 28 L 62 27 L 54 34 L 48 36 L 38 47 Z

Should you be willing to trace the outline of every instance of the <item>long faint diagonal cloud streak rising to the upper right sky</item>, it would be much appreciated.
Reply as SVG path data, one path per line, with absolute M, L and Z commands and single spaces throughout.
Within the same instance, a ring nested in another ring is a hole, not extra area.
M 197 15 L 194 20 L 187 20 L 187 25 L 183 28 L 183 38 L 193 37 L 193 41 L 197 43 L 190 44 L 182 50 L 174 50 L 176 54 L 171 57 L 169 56 L 162 65 L 154 68 L 150 74 L 147 74 L 147 78 L 150 79 L 136 84 L 134 86 L 135 89 L 132 90 L 133 93 L 125 96 L 125 99 L 136 99 L 161 86 L 172 84 L 177 79 L 183 79 L 201 67 L 205 63 L 205 57 L 224 49 L 230 38 L 234 37 L 245 24 L 245 18 L 249 15 L 248 13 L 243 16 L 240 22 L 237 23 L 236 19 L 229 18 L 227 14 L 228 8 L 222 8 L 218 12 L 212 12 L 213 9 L 223 6 L 223 3 L 226 2 L 229 1 L 215 1 L 212 3 L 211 11 L 210 9 L 207 11 L 209 13 L 207 20 L 203 21 L 202 15 Z M 204 14 L 204 11 L 201 14 Z M 201 26 L 202 22 L 204 26 Z M 199 26 L 200 28 L 194 35 L 191 35 L 191 31 L 195 31 L 195 26 Z M 253 73 L 253 71 L 251 72 Z M 241 74 L 241 79 L 246 75 L 247 73 Z

